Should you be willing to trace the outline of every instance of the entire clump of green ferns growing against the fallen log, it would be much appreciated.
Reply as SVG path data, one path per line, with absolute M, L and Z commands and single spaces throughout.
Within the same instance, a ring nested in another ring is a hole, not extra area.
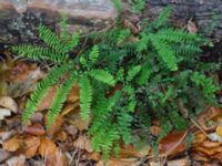
M 114 4 L 119 12 L 124 10 L 121 1 L 114 0 Z M 144 4 L 143 0 L 134 0 L 132 9 L 141 11 Z M 60 83 L 48 112 L 47 127 L 60 114 L 72 85 L 79 84 L 81 118 L 91 120 L 93 149 L 103 153 L 104 158 L 118 154 L 120 142 L 132 144 L 135 131 L 140 131 L 141 139 L 147 138 L 152 117 L 162 124 L 157 139 L 172 129 L 186 128 L 189 117 L 205 104 L 215 104 L 219 86 L 204 73 L 218 68 L 200 62 L 205 40 L 171 27 L 170 14 L 171 9 L 165 8 L 137 35 L 121 21 L 117 22 L 105 32 L 90 33 L 90 44 L 83 48 L 79 32 L 69 35 L 65 17 L 60 23 L 60 35 L 40 25 L 43 46 L 12 46 L 18 54 L 54 64 L 27 102 L 22 121 L 29 121 L 49 90 Z M 70 58 L 74 48 L 79 51 Z M 186 111 L 185 115 L 181 110 Z

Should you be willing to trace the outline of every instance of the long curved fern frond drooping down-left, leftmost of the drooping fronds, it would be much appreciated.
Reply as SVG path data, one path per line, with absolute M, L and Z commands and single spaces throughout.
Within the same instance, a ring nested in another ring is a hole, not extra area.
M 54 68 L 49 72 L 46 79 L 37 84 L 36 91 L 31 94 L 27 102 L 26 110 L 22 113 L 22 122 L 26 123 L 30 120 L 31 115 L 37 111 L 42 98 L 47 95 L 50 87 L 67 72 L 68 65 Z

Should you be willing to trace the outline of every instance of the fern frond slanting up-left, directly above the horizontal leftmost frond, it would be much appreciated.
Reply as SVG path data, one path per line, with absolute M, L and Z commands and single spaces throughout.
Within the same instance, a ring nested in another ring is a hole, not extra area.
M 38 27 L 39 38 L 42 39 L 49 46 L 51 46 L 57 52 L 64 54 L 65 45 L 59 40 L 57 34 L 52 32 L 48 27 L 40 24 Z

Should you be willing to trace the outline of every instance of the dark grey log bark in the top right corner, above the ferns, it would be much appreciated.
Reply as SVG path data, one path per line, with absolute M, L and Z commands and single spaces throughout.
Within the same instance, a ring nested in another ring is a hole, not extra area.
M 222 0 L 148 0 L 144 15 L 155 18 L 168 6 L 173 9 L 174 24 L 185 27 L 190 20 L 204 35 L 222 39 Z

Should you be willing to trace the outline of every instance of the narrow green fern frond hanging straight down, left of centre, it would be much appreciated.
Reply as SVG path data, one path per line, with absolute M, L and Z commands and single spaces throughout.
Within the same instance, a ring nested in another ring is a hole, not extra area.
M 87 75 L 80 79 L 80 115 L 83 121 L 89 120 L 91 103 L 92 103 L 92 87 Z

